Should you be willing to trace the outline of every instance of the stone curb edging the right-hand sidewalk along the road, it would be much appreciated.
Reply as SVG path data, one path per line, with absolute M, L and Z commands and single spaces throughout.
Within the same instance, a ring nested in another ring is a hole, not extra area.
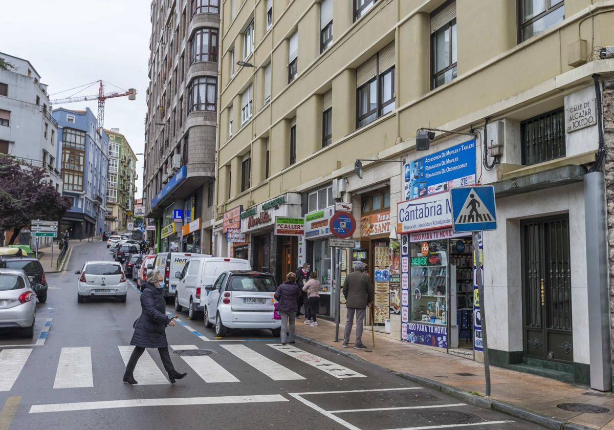
M 435 391 L 439 391 L 440 393 L 447 394 L 448 396 L 456 397 L 457 399 L 461 399 L 464 402 L 469 404 L 496 410 L 499 412 L 507 413 L 507 415 L 514 416 L 515 418 L 520 418 L 521 420 L 530 421 L 535 424 L 539 424 L 540 426 L 544 426 L 548 429 L 553 430 L 594 430 L 589 427 L 585 427 L 581 424 L 569 423 L 569 421 L 558 420 L 556 418 L 549 418 L 548 416 L 540 415 L 536 412 L 531 412 L 530 410 L 526 410 L 524 408 L 511 405 L 502 401 L 488 399 L 483 396 L 476 396 L 475 394 L 469 393 L 468 391 L 464 391 L 460 388 L 455 388 L 451 385 L 446 385 L 441 383 L 440 381 L 435 381 L 429 378 L 422 378 L 416 375 L 412 375 L 411 373 L 404 372 L 396 372 L 395 370 L 388 369 L 387 367 L 383 367 L 379 364 L 375 364 L 371 361 L 367 361 L 354 353 L 350 353 L 348 351 L 344 351 L 340 348 L 335 348 L 335 346 L 330 346 L 328 343 L 320 342 L 319 340 L 312 339 L 311 337 L 307 337 L 301 334 L 295 334 L 295 337 L 302 340 L 303 342 L 310 343 L 311 345 L 319 346 L 320 348 L 324 348 L 332 353 L 340 354 L 351 358 L 352 360 L 356 360 L 365 364 L 370 364 L 382 372 L 391 373 L 392 375 L 397 375 L 403 379 L 412 381 L 419 385 L 425 386 L 430 389 L 434 389 Z

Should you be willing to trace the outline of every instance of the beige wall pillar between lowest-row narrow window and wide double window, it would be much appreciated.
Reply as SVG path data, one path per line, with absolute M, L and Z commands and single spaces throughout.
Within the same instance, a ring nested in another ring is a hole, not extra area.
M 356 130 L 356 69 L 346 69 L 333 79 L 333 142 L 354 130 Z

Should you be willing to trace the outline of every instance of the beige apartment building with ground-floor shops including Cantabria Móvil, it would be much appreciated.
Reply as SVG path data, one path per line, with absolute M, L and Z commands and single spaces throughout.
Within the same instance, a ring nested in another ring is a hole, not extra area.
M 331 318 L 361 260 L 376 330 L 481 360 L 483 310 L 491 364 L 599 388 L 583 182 L 613 25 L 589 0 L 223 1 L 216 251 L 279 280 L 311 263 Z M 480 267 L 448 210 L 473 184 L 497 192 Z M 335 283 L 336 200 L 357 227 Z

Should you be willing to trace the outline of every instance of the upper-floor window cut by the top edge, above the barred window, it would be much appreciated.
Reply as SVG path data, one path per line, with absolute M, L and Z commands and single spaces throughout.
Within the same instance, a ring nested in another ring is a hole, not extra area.
M 523 42 L 565 19 L 563 0 L 518 0 L 518 41 Z

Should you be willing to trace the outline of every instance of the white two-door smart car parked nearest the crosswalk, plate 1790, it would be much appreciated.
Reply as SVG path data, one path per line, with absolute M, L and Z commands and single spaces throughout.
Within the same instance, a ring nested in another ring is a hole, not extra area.
M 281 321 L 273 319 L 273 295 L 277 283 L 273 275 L 249 270 L 223 272 L 212 285 L 204 308 L 204 325 L 215 325 L 216 336 L 228 329 L 270 329 L 281 334 Z

